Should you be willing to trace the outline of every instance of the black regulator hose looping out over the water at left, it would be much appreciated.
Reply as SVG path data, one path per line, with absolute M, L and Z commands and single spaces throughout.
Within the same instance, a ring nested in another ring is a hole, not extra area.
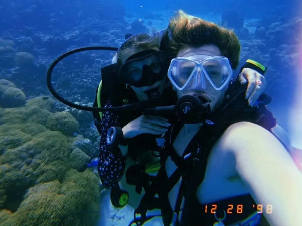
M 53 88 L 53 85 L 51 84 L 51 74 L 53 72 L 54 67 L 64 58 L 68 57 L 69 55 L 72 55 L 74 53 L 77 52 L 83 52 L 83 51 L 88 51 L 88 50 L 111 50 L 111 51 L 117 51 L 118 48 L 116 47 L 106 47 L 106 46 L 90 46 L 90 47 L 84 47 L 84 48 L 79 48 L 79 49 L 74 49 L 72 51 L 66 52 L 63 55 L 61 55 L 60 57 L 56 58 L 56 60 L 54 60 L 52 62 L 52 64 L 50 64 L 50 67 L 48 68 L 47 71 L 47 76 L 46 76 L 46 81 L 47 81 L 47 87 L 50 91 L 50 93 L 53 94 L 53 96 L 58 99 L 60 102 L 72 107 L 72 108 L 77 108 L 80 110 L 84 110 L 84 111 L 120 111 L 120 110 L 129 110 L 129 111 L 133 111 L 133 109 L 137 108 L 140 106 L 140 103 L 133 103 L 133 104 L 126 104 L 123 106 L 119 106 L 119 107 L 111 107 L 111 108 L 95 108 L 95 107 L 87 107 L 87 106 L 82 106 L 82 105 L 78 105 L 78 104 L 74 104 L 72 102 L 69 102 L 68 100 L 64 99 L 63 97 L 61 97 Z

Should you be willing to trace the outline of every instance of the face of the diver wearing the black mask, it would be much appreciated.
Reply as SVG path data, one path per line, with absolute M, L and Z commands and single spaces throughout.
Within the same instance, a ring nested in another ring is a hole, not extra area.
M 120 60 L 121 63 L 124 64 L 125 61 L 132 55 L 142 52 L 147 49 L 142 49 L 142 48 L 137 48 L 137 49 L 131 49 L 125 51 L 121 56 Z M 153 48 L 152 50 L 159 51 L 158 48 Z M 148 65 L 149 68 L 154 72 L 154 73 L 160 73 L 161 71 L 161 65 L 158 61 L 158 58 L 156 56 L 150 56 L 149 58 L 146 58 L 142 61 L 134 61 L 130 64 L 130 67 L 127 68 L 129 71 L 129 74 L 132 76 L 137 76 L 138 78 L 142 75 L 143 73 L 143 66 Z M 135 92 L 137 98 L 142 101 L 142 100 L 147 100 L 148 96 L 151 96 L 152 93 L 162 93 L 163 89 L 165 87 L 165 78 L 162 79 L 161 81 L 158 81 L 154 83 L 151 86 L 143 86 L 143 87 L 135 87 L 130 85 L 131 89 Z

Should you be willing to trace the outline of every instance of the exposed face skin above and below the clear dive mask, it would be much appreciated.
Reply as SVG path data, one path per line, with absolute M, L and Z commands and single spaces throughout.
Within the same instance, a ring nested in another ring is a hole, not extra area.
M 193 55 L 205 55 L 208 57 L 205 57 L 202 60 L 205 60 L 209 57 L 214 57 L 214 56 L 221 56 L 221 51 L 220 49 L 215 46 L 215 45 L 204 45 L 198 48 L 194 47 L 188 47 L 185 49 L 182 49 L 181 51 L 178 52 L 177 57 L 190 57 Z M 207 85 L 205 88 L 193 90 L 193 89 L 183 89 L 183 90 L 178 90 L 174 87 L 174 90 L 177 92 L 178 99 L 182 96 L 188 95 L 190 93 L 204 93 L 207 95 L 208 99 L 210 99 L 210 106 L 211 109 L 214 110 L 223 100 L 224 93 L 228 86 L 225 86 L 222 90 L 217 91 L 214 89 L 213 86 Z

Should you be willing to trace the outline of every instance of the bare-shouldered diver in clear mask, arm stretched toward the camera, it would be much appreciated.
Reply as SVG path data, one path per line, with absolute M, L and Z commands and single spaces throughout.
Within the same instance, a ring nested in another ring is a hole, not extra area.
M 226 95 L 239 61 L 233 31 L 179 11 L 163 40 L 176 56 L 168 78 L 178 100 L 194 99 L 202 114 L 172 123 L 133 223 L 159 203 L 165 226 L 302 225 L 301 172 L 271 131 L 276 120 L 265 102 Z

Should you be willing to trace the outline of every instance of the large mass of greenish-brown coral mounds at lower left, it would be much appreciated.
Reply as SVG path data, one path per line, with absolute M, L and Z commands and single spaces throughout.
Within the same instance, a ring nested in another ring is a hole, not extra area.
M 0 108 L 0 226 L 95 225 L 99 179 L 91 170 L 72 169 L 69 158 L 75 138 L 68 135 L 78 124 L 41 103 Z

